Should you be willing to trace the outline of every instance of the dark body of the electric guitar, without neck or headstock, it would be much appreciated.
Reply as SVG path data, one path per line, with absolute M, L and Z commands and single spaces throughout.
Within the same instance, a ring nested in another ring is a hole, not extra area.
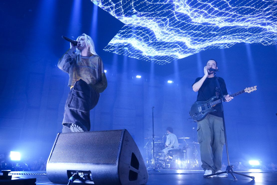
M 217 98 L 216 96 L 211 97 L 208 101 L 197 101 L 195 102 L 190 109 L 189 114 L 191 115 L 192 119 L 195 121 L 200 121 L 204 119 L 204 117 L 209 114 L 210 112 L 215 112 L 211 106 L 211 103 L 215 101 Z

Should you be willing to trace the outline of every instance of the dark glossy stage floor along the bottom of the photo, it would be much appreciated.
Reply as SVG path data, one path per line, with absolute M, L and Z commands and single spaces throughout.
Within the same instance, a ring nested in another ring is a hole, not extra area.
M 168 185 L 168 184 L 255 184 L 255 185 L 270 185 L 277 184 L 277 170 L 243 170 L 237 171 L 238 173 L 243 173 L 249 176 L 254 176 L 255 179 L 240 176 L 234 174 L 238 179 L 237 182 L 234 181 L 231 174 L 227 178 L 203 178 L 204 171 L 200 170 L 170 170 L 162 169 L 160 171 L 148 171 L 149 179 L 147 184 L 151 185 Z M 24 177 L 24 178 L 36 178 L 36 184 L 54 184 L 51 183 L 48 178 L 46 171 L 13 171 L 13 178 Z M 60 184 L 57 184 L 60 185 Z

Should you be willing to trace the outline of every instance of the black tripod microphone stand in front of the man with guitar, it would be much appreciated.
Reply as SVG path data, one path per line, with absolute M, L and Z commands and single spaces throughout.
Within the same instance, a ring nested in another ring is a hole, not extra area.
M 220 88 L 220 85 L 219 85 L 219 81 L 218 81 L 218 77 L 216 76 L 216 73 L 214 73 L 214 76 L 216 77 L 216 84 L 217 84 L 217 92 L 220 93 L 220 98 L 222 98 L 222 101 L 225 101 L 224 100 L 224 96 L 223 96 L 223 93 L 222 93 L 222 90 Z M 221 111 L 222 111 L 222 121 L 223 121 L 223 127 L 224 127 L 224 135 L 225 135 L 225 143 L 226 143 L 226 151 L 227 151 L 227 161 L 228 161 L 228 166 L 226 168 L 225 171 L 222 171 L 220 173 L 213 173 L 213 174 L 210 174 L 210 175 L 203 175 L 203 177 L 209 177 L 209 176 L 213 176 L 213 175 L 219 175 L 219 174 L 222 174 L 222 173 L 230 173 L 233 177 L 234 177 L 234 181 L 238 181 L 238 179 L 234 176 L 233 173 L 235 174 L 238 174 L 238 175 L 242 175 L 242 176 L 245 176 L 245 177 L 249 177 L 251 179 L 255 179 L 255 177 L 253 176 L 248 176 L 248 175 L 245 175 L 245 174 L 242 174 L 242 173 L 238 173 L 238 172 L 235 172 L 233 171 L 233 165 L 231 166 L 230 165 L 230 161 L 229 161 L 229 153 L 228 153 L 228 146 L 227 146 L 227 136 L 226 136 L 226 128 L 225 128 L 225 120 L 224 120 L 224 114 L 223 114 L 223 105 L 222 105 L 222 102 L 220 103 L 220 106 L 221 106 Z

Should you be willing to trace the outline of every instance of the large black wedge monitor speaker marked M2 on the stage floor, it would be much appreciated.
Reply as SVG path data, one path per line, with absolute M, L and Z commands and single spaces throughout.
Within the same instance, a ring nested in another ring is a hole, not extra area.
M 124 130 L 58 133 L 47 161 L 52 183 L 146 184 L 148 172 L 131 137 Z

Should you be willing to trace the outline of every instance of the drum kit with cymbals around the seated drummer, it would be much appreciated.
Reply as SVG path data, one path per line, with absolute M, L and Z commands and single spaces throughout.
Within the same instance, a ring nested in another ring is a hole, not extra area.
M 146 151 L 145 165 L 153 167 L 153 138 L 148 137 L 144 146 Z M 169 150 L 167 154 L 163 152 L 165 148 L 166 136 L 154 138 L 154 164 L 158 169 L 199 169 L 197 142 L 187 143 L 189 137 L 180 137 L 183 143 L 179 144 L 179 149 Z

